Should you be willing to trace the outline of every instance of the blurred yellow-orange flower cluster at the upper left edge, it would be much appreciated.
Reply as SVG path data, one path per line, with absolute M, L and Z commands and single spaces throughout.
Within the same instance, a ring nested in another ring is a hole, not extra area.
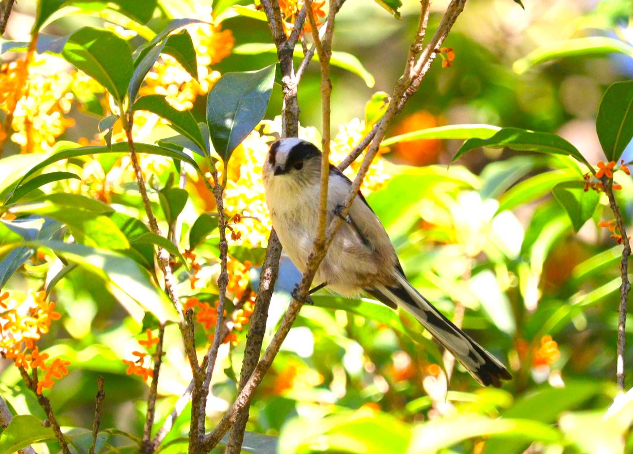
M 28 66 L 25 68 L 25 66 Z M 70 111 L 73 76 L 60 57 L 32 54 L 25 60 L 3 64 L 0 70 L 0 109 L 13 115 L 11 140 L 23 152 L 49 151 L 66 128 L 75 121 L 65 118 Z

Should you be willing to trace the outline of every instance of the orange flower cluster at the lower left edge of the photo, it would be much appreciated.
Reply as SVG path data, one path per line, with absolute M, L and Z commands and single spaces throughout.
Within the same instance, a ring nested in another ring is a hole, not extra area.
M 8 291 L 0 292 L 0 353 L 6 359 L 12 359 L 16 367 L 46 372 L 37 380 L 37 393 L 52 388 L 55 380 L 68 375 L 70 361 L 55 358 L 47 363 L 48 353 L 41 353 L 35 341 L 46 334 L 51 321 L 59 320 L 61 315 L 54 311 L 55 303 L 46 301 L 46 291 L 30 291 L 23 302 L 12 298 Z

